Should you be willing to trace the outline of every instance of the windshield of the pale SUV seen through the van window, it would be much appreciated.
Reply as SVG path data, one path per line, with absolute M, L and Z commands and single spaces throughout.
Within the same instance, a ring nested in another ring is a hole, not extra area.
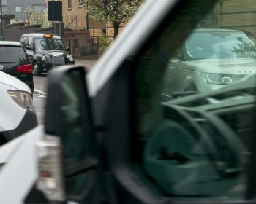
M 241 31 L 195 31 L 186 41 L 192 59 L 255 58 L 255 43 Z

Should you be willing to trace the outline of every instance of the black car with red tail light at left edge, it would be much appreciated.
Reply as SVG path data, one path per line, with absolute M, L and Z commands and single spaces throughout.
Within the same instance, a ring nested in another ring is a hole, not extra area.
M 0 71 L 20 79 L 33 93 L 33 68 L 20 42 L 0 41 Z

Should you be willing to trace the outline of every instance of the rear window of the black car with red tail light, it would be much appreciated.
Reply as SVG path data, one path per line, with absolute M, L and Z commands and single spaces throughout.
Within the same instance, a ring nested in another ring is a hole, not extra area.
M 23 63 L 26 61 L 26 55 L 23 47 L 1 46 L 0 62 L 1 63 Z

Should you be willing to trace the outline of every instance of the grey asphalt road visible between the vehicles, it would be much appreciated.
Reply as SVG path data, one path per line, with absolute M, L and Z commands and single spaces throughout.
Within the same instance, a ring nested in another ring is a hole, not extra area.
M 90 70 L 96 60 L 75 60 L 76 65 L 86 66 L 87 70 Z M 47 85 L 48 85 L 48 74 L 44 76 L 34 76 L 34 94 L 33 101 L 37 112 L 37 119 L 39 124 L 44 123 L 45 116 L 45 100 L 47 98 Z

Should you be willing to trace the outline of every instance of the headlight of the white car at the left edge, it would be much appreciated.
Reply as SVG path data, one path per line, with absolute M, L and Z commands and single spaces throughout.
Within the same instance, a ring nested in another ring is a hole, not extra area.
M 7 90 L 10 97 L 23 109 L 34 111 L 33 99 L 31 93 L 20 90 Z

